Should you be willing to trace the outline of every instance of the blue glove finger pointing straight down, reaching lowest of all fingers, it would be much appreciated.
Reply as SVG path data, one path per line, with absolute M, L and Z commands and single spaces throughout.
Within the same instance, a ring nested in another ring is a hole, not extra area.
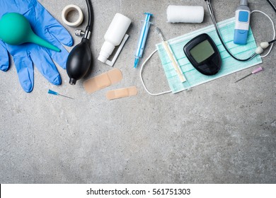
M 21 87 L 27 93 L 33 91 L 33 62 L 26 54 L 25 57 L 13 57 Z

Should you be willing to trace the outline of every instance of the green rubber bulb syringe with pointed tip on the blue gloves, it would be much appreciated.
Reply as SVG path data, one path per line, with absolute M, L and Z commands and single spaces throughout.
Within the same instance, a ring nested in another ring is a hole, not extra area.
M 30 28 L 27 18 L 20 13 L 6 13 L 2 16 L 0 20 L 0 39 L 9 45 L 21 45 L 25 42 L 33 42 L 60 52 L 59 48 L 35 35 L 32 28 Z

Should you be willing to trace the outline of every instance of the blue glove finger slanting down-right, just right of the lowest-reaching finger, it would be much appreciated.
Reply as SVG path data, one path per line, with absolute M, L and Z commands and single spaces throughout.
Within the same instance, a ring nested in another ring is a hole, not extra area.
M 57 71 L 57 67 L 52 62 L 50 55 L 44 47 L 36 45 L 30 52 L 33 63 L 38 71 L 52 84 L 58 86 L 62 83 L 62 78 Z

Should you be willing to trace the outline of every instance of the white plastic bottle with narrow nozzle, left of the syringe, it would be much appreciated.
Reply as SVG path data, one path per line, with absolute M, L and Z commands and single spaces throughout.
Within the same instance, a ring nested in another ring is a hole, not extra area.
M 115 14 L 113 21 L 109 25 L 108 31 L 105 33 L 103 47 L 100 49 L 100 56 L 98 57 L 100 62 L 105 63 L 115 49 L 115 46 L 120 45 L 131 22 L 130 18 L 127 18 L 121 13 Z

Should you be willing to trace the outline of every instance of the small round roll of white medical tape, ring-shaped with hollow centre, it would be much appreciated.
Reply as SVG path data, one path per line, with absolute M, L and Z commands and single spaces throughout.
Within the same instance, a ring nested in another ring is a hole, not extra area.
M 79 18 L 75 22 L 67 21 L 67 15 L 71 11 L 77 11 L 79 13 Z M 66 25 L 76 28 L 79 25 L 81 25 L 81 23 L 84 21 L 84 13 L 82 13 L 81 8 L 79 8 L 79 6 L 76 6 L 73 4 L 65 6 L 65 8 L 63 8 L 63 10 L 62 10 L 62 21 Z

